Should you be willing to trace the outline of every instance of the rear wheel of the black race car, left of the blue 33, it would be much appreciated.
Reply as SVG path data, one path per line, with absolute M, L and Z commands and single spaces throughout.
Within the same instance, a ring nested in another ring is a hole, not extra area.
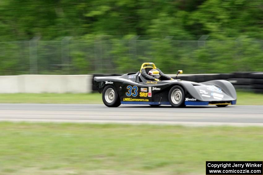
M 121 105 L 119 95 L 111 85 L 108 85 L 103 89 L 102 101 L 107 107 L 118 107 Z

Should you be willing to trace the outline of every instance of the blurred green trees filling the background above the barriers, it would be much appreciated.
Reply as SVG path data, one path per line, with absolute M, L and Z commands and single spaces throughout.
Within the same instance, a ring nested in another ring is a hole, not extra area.
M 263 71 L 263 1 L 2 0 L 0 13 L 1 75 Z

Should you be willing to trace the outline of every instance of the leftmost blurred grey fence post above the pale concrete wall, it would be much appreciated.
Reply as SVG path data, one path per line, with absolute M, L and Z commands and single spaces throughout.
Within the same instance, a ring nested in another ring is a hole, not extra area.
M 40 37 L 33 37 L 29 41 L 29 69 L 30 74 L 37 74 L 37 42 Z

